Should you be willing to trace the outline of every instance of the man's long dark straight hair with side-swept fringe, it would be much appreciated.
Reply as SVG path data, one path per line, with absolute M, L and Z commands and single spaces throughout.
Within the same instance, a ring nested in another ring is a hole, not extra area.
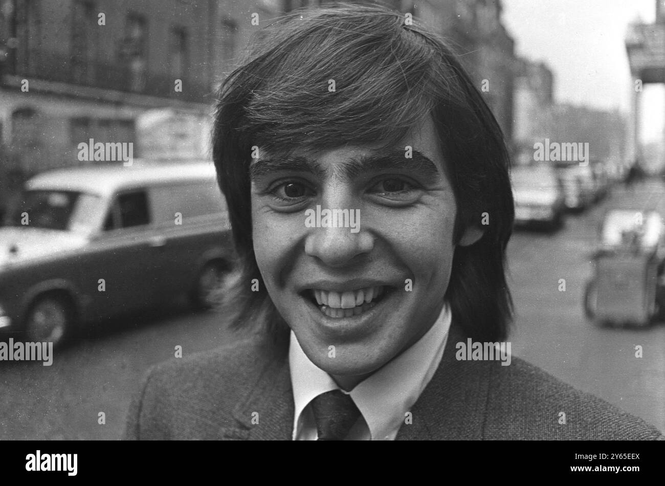
M 288 329 L 253 252 L 252 147 L 288 154 L 296 147 L 392 146 L 430 114 L 458 207 L 454 241 L 468 225 L 485 229 L 476 243 L 455 249 L 446 292 L 453 321 L 477 340 L 507 337 L 512 301 L 504 265 L 514 209 L 503 134 L 446 42 L 405 19 L 362 5 L 295 11 L 255 35 L 247 59 L 219 88 L 213 159 L 239 258 L 238 279 L 225 289 L 235 326 Z M 327 90 L 329 79 L 335 92 Z M 488 225 L 481 225 L 483 213 Z

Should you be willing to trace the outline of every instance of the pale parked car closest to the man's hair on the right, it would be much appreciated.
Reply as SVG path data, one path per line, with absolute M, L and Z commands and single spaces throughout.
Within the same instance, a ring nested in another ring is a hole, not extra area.
M 515 167 L 511 170 L 515 224 L 545 224 L 561 227 L 565 202 L 561 182 L 549 166 Z

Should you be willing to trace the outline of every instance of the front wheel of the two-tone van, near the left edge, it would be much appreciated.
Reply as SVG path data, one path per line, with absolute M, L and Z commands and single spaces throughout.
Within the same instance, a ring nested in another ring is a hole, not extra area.
M 25 330 L 33 342 L 62 344 L 72 328 L 72 308 L 60 297 L 42 297 L 33 303 L 25 318 Z

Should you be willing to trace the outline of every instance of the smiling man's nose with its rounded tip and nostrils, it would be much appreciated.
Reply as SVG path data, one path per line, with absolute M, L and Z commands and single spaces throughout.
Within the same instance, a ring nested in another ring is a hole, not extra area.
M 350 211 L 360 210 L 349 209 L 349 213 Z M 332 217 L 330 222 L 334 223 Z M 360 224 L 357 232 L 352 232 L 352 229 L 356 231 L 352 227 L 343 227 L 342 221 L 337 223 L 337 227 L 309 228 L 309 234 L 305 239 L 305 253 L 318 258 L 329 267 L 343 267 L 358 255 L 372 251 L 374 237 L 370 231 L 363 228 L 361 221 L 358 221 Z

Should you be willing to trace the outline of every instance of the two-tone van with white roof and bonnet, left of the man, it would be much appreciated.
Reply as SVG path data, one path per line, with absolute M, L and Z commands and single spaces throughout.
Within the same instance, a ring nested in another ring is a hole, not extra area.
M 60 344 L 78 326 L 186 294 L 211 306 L 233 266 L 211 163 L 88 166 L 25 184 L 0 227 L 0 332 Z

